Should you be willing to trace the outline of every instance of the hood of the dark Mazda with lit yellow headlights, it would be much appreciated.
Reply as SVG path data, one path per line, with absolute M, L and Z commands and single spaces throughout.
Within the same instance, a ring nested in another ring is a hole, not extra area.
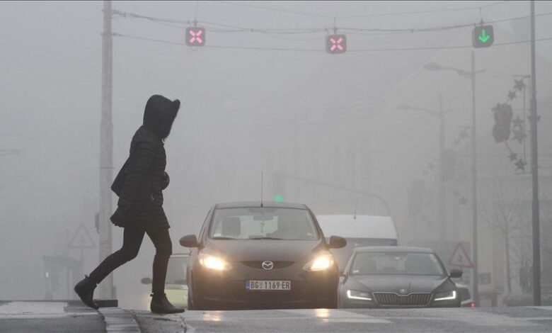
M 228 261 L 304 261 L 314 252 L 326 251 L 320 240 L 210 240 L 209 253 L 224 256 Z M 329 253 L 329 252 L 328 252 Z

